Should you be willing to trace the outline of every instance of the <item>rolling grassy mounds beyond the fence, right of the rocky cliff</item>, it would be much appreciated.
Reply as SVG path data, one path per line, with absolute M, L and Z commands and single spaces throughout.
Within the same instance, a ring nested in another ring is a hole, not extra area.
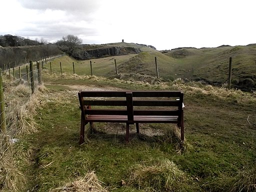
M 222 86 L 227 83 L 229 57 L 232 57 L 232 87 L 255 90 L 256 44 L 221 45 L 215 48 L 180 47 L 163 51 L 140 48 L 141 53 L 118 66 L 119 72 L 155 76 L 156 56 L 159 76 L 165 80 L 183 78 Z

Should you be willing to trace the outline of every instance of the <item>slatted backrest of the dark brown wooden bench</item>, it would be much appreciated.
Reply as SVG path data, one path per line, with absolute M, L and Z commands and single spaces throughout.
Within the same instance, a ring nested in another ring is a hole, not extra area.
M 133 120 L 134 115 L 171 115 L 181 118 L 183 103 L 182 91 L 80 90 L 78 97 L 83 117 L 87 114 L 112 114 L 127 115 L 128 120 Z M 91 108 L 92 105 L 105 107 Z

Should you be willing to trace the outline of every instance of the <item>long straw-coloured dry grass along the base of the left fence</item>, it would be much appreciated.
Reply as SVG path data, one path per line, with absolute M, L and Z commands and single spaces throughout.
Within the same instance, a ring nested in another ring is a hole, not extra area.
M 37 130 L 33 115 L 40 93 L 36 91 L 31 95 L 30 87 L 17 80 L 6 80 L 4 86 L 7 130 L 0 134 L 0 190 L 22 191 L 26 176 L 20 164 L 28 163 L 30 152 L 11 144 L 11 139 Z

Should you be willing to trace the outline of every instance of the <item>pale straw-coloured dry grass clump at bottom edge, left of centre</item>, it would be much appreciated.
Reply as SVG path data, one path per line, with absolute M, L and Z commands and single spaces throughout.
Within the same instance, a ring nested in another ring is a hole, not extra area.
M 107 192 L 108 190 L 101 186 L 101 181 L 97 179 L 94 171 L 87 172 L 84 178 L 79 178 L 73 182 L 66 183 L 62 187 L 51 189 L 51 192 L 76 191 L 76 192 Z

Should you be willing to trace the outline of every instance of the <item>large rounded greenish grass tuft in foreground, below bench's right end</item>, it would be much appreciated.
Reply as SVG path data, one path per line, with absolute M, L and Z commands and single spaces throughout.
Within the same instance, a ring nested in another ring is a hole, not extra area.
M 174 162 L 164 159 L 155 165 L 132 167 L 128 184 L 149 191 L 181 191 L 186 180 L 185 173 Z

